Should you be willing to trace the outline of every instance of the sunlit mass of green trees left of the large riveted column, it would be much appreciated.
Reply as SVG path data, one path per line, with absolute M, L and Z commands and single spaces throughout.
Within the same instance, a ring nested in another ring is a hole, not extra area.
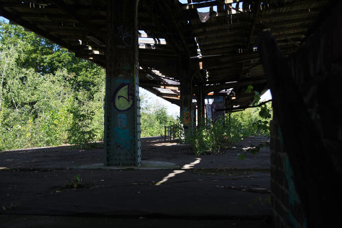
M 2 21 L 0 71 L 0 149 L 103 140 L 102 68 Z

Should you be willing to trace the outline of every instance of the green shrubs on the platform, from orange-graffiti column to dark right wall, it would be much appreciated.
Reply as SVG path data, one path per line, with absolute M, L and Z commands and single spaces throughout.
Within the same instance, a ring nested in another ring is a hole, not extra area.
M 229 148 L 233 143 L 242 140 L 250 135 L 269 136 L 269 120 L 272 114 L 269 113 L 271 104 L 261 108 L 251 108 L 245 111 L 225 115 L 224 119 L 215 123 L 200 123 L 196 128 L 184 133 L 182 124 L 178 123 L 181 134 L 185 134 L 185 142 L 193 152 L 198 154 L 217 154 L 220 149 Z

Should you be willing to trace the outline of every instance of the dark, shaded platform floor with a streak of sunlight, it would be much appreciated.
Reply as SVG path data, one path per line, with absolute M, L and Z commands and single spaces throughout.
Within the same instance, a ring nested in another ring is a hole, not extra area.
M 1 227 L 272 227 L 269 150 L 237 158 L 267 140 L 246 138 L 220 155 L 196 156 L 162 137 L 143 139 L 143 163 L 170 165 L 160 170 L 95 167 L 101 148 L 1 152 Z M 61 189 L 76 175 L 88 185 Z

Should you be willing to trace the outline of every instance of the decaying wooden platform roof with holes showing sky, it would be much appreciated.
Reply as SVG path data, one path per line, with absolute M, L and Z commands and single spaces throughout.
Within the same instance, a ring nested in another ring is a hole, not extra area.
M 267 89 L 256 35 L 271 29 L 284 55 L 290 55 L 328 1 L 246 0 L 240 12 L 229 7 L 237 0 L 188 2 L 140 0 L 139 30 L 146 34 L 139 36 L 153 38 L 139 39 L 140 86 L 179 104 L 178 54 L 183 52 L 191 59 L 194 91 L 201 82 L 206 92 L 224 94 L 226 106 L 247 106 L 254 96 L 244 93 L 249 84 L 261 94 Z M 210 11 L 198 13 L 202 7 Z M 0 15 L 105 67 L 105 0 L 0 0 Z

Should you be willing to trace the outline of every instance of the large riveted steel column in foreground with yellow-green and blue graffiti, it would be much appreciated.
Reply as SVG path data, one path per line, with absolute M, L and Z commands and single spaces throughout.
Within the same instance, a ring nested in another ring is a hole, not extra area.
M 137 0 L 107 1 L 104 166 L 140 166 Z

